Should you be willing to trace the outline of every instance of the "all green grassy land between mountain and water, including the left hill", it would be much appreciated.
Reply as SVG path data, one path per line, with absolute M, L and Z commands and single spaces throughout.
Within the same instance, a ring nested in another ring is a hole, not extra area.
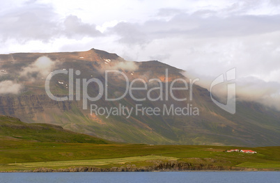
M 26 124 L 0 116 L 0 171 L 36 168 L 147 167 L 155 161 L 192 166 L 280 170 L 280 147 L 251 149 L 257 154 L 224 152 L 238 147 L 121 144 L 77 134 L 59 126 Z

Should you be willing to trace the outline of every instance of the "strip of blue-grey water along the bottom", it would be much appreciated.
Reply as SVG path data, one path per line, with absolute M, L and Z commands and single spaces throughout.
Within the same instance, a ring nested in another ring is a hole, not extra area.
M 0 173 L 0 182 L 280 182 L 280 172 Z

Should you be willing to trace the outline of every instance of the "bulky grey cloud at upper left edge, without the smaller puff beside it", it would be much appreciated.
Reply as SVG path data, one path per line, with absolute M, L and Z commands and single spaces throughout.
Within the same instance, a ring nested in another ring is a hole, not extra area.
M 58 22 L 51 6 L 30 5 L 11 8 L 0 16 L 0 40 L 10 38 L 24 44 L 28 40 L 47 41 L 57 33 Z

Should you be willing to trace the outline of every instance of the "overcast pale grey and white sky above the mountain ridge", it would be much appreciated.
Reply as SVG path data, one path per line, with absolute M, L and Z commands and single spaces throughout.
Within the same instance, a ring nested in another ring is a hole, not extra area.
M 0 53 L 114 52 L 280 95 L 280 0 L 1 0 Z M 244 88 L 244 90 L 247 90 Z

